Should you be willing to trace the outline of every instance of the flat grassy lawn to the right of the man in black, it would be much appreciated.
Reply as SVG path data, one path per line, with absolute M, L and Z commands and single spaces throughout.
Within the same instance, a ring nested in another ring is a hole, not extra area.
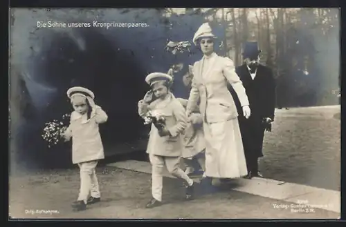
M 277 110 L 264 137 L 266 178 L 340 190 L 340 106 Z

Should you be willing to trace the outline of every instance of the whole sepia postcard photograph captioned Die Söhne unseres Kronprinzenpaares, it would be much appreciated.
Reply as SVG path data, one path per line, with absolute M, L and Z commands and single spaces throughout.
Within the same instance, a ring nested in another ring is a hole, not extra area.
M 340 8 L 10 8 L 8 219 L 340 219 Z

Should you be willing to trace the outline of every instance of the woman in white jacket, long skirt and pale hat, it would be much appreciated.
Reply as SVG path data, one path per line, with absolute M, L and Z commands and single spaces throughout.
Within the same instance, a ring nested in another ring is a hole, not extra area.
M 247 175 L 247 169 L 237 108 L 228 83 L 237 93 L 246 118 L 251 111 L 233 61 L 214 52 L 216 38 L 208 23 L 203 23 L 194 34 L 193 42 L 201 48 L 203 58 L 193 66 L 187 115 L 191 115 L 200 99 L 206 140 L 206 177 L 238 178 Z

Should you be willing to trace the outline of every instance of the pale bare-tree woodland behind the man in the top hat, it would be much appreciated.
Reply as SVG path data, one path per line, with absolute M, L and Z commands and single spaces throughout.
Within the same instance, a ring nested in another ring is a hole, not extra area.
M 185 8 L 224 29 L 220 54 L 242 64 L 245 41 L 259 43 L 261 62 L 277 79 L 278 106 L 338 103 L 340 13 L 337 8 Z M 286 100 L 284 100 L 286 99 Z

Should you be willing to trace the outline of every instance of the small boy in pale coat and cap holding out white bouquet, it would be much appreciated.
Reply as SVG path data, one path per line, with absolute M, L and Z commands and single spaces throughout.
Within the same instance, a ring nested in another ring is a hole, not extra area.
M 95 167 L 98 160 L 104 159 L 104 150 L 98 125 L 106 122 L 108 117 L 100 106 L 95 105 L 91 90 L 73 87 L 67 91 L 67 96 L 74 111 L 64 138 L 66 141 L 72 138 L 72 161 L 80 167 L 80 194 L 72 206 L 85 210 L 86 204 L 100 201 Z

